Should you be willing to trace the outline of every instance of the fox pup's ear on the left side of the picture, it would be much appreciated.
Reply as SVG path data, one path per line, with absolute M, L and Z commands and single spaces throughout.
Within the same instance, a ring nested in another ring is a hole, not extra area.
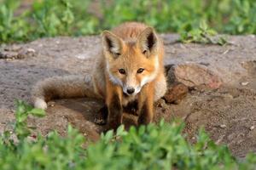
M 102 44 L 104 51 L 112 54 L 114 59 L 118 58 L 122 53 L 123 41 L 111 31 L 102 32 Z

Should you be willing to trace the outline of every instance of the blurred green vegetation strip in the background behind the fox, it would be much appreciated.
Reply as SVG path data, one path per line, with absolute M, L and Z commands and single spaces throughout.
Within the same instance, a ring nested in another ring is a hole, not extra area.
M 21 1 L 0 0 L 0 42 L 98 34 L 129 20 L 145 22 L 160 32 L 177 32 L 182 35 L 183 42 L 190 42 L 191 35 L 197 39 L 195 42 L 201 39 L 196 36 L 201 22 L 219 33 L 256 33 L 254 0 L 100 2 L 99 11 L 94 10 L 96 15 L 90 13 L 90 0 L 35 0 L 31 8 L 21 10 L 21 13 L 17 12 Z M 98 16 L 100 14 L 102 17 Z

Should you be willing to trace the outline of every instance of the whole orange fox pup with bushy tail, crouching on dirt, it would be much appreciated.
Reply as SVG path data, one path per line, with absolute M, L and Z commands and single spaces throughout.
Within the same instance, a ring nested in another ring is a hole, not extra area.
M 137 101 L 138 124 L 154 117 L 154 101 L 166 93 L 164 46 L 152 27 L 129 22 L 102 32 L 102 55 L 92 76 L 51 77 L 32 89 L 35 107 L 46 109 L 54 98 L 104 99 L 108 127 L 122 123 L 123 107 Z

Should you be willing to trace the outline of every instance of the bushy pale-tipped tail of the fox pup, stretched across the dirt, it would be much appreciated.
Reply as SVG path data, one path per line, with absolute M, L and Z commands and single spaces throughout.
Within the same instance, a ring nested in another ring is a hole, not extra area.
M 50 99 L 92 97 L 100 98 L 94 92 L 90 76 L 49 77 L 37 82 L 32 88 L 32 103 L 40 109 L 47 108 Z

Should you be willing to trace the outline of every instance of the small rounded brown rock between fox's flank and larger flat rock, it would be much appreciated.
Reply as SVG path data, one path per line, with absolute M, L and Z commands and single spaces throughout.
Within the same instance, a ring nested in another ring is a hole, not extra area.
M 189 93 L 189 88 L 183 83 L 176 82 L 169 88 L 164 96 L 167 103 L 178 104 Z

